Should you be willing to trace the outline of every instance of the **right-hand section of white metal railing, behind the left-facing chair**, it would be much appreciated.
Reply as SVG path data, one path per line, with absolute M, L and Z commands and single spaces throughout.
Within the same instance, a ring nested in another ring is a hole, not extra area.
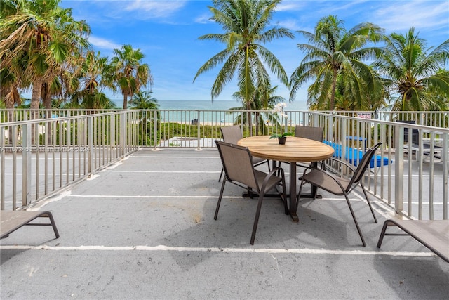
M 356 115 L 356 114 L 354 114 Z M 404 116 L 400 116 L 404 117 Z M 366 116 L 310 114 L 311 124 L 325 128 L 325 140 L 351 151 L 382 142 L 370 169 L 366 188 L 393 207 L 398 214 L 416 219 L 448 219 L 449 129 L 417 124 L 386 122 Z M 417 131 L 405 138 L 405 131 Z M 355 138 L 354 138 L 355 137 Z

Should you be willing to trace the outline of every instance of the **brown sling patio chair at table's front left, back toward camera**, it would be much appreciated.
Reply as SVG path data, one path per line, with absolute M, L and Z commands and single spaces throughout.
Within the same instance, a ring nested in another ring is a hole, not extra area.
M 256 170 L 254 169 L 253 157 L 248 148 L 222 141 L 215 141 L 215 143 L 217 144 L 218 152 L 220 152 L 223 169 L 225 170 L 225 178 L 222 182 L 220 196 L 218 197 L 217 208 L 215 209 L 215 216 L 213 219 L 217 220 L 218 210 L 220 209 L 220 203 L 222 202 L 223 190 L 225 190 L 225 184 L 227 182 L 248 190 L 250 195 L 253 192 L 257 193 L 259 198 L 255 213 L 253 233 L 251 233 L 250 240 L 250 243 L 254 244 L 262 200 L 264 199 L 264 194 L 266 192 L 275 188 L 283 201 L 284 211 L 288 214 L 286 180 L 283 169 L 276 167 L 269 171 L 268 174 Z M 281 176 L 276 176 L 277 171 L 280 171 Z M 277 188 L 277 185 L 279 184 L 282 185 L 282 193 Z

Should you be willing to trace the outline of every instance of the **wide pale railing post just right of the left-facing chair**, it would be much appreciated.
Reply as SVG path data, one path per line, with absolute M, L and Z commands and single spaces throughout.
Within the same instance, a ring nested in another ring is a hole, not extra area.
M 410 130 L 410 129 L 409 129 Z M 411 131 L 411 130 L 410 130 Z M 394 136 L 396 136 L 396 151 L 394 152 L 395 167 L 394 174 L 404 174 L 404 127 L 394 126 Z M 411 149 L 409 149 L 409 155 Z M 394 176 L 394 211 L 396 216 L 402 219 L 399 211 L 404 209 L 404 178 L 403 176 Z

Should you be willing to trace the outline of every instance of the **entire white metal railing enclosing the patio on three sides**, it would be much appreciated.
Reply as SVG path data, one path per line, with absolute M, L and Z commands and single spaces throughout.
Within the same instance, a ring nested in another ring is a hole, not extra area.
M 63 112 L 69 117 L 0 124 L 1 209 L 29 205 L 138 147 L 201 150 L 215 148 L 220 126 L 241 124 L 243 136 L 251 136 L 293 133 L 295 126 L 309 125 L 323 126 L 325 142 L 353 164 L 366 148 L 382 142 L 366 176 L 369 192 L 398 214 L 448 219 L 449 129 L 422 125 L 429 120 L 448 124 L 447 112 L 395 112 L 389 117 L 416 119 L 417 124 L 390 122 L 378 112 L 286 112 L 284 124 L 267 111 L 55 111 Z M 15 113 L 32 116 L 29 110 Z M 248 126 L 248 119 L 253 126 Z M 404 131 L 413 129 L 420 133 L 417 145 L 411 135 L 404 138 Z

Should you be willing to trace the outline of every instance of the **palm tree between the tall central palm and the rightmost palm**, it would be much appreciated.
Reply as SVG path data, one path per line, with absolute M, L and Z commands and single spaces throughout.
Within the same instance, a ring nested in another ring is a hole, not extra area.
M 351 81 L 351 93 L 356 101 L 366 99 L 366 89 L 378 91 L 382 81 L 363 60 L 380 55 L 380 48 L 365 46 L 368 42 L 380 41 L 382 32 L 371 23 L 361 23 L 347 31 L 343 21 L 333 15 L 321 18 L 315 33 L 298 31 L 310 44 L 297 45 L 306 55 L 290 76 L 290 101 L 295 99 L 302 84 L 314 79 L 308 89 L 309 100 L 328 103 L 326 109 L 334 110 L 337 79 L 341 74 Z

